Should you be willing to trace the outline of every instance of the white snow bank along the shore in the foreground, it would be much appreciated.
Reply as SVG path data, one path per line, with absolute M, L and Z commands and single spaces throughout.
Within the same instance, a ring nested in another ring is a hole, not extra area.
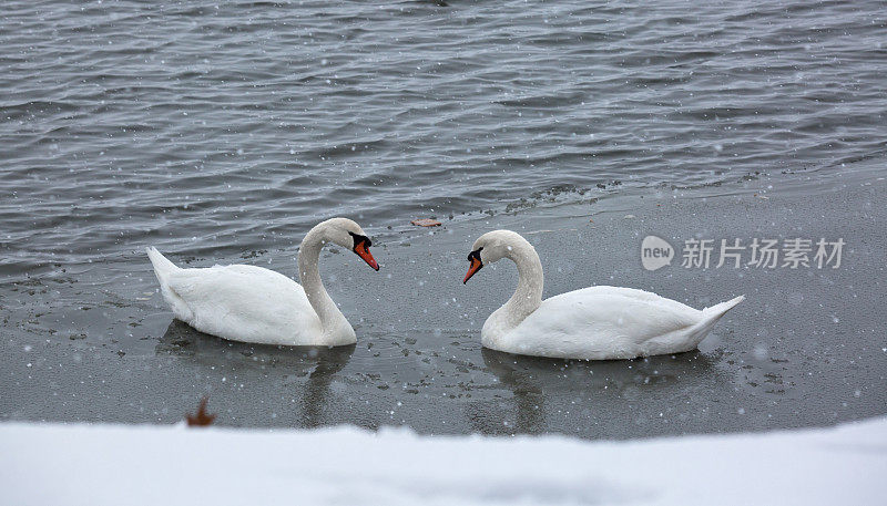
M 885 477 L 887 417 L 633 442 L 0 424 L 4 505 L 874 505 Z

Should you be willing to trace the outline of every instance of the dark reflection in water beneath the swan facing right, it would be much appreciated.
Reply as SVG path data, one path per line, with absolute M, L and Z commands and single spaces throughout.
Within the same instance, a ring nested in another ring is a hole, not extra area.
M 273 364 L 284 371 L 282 386 L 296 385 L 285 382 L 287 376 L 305 378 L 302 395 L 302 420 L 299 426 L 325 425 L 324 406 L 329 402 L 329 388 L 336 374 L 348 363 L 355 345 L 346 347 L 274 347 L 225 341 L 200 332 L 179 320 L 173 320 L 160 339 L 157 354 L 172 354 L 204 366 L 214 366 L 249 376 L 256 381 L 268 381 L 266 365 Z M 289 409 L 283 406 L 282 409 Z

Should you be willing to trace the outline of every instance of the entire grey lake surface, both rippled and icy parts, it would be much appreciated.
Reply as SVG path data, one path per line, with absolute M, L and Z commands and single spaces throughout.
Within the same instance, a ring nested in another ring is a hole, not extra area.
M 884 2 L 7 1 L 0 10 L 0 420 L 648 437 L 884 414 Z M 144 255 L 295 276 L 327 248 L 358 343 L 233 343 L 174 321 Z M 409 221 L 437 217 L 442 227 Z M 481 349 L 510 265 L 550 297 L 743 304 L 700 351 Z M 847 242 L 840 269 L 650 272 L 641 239 Z

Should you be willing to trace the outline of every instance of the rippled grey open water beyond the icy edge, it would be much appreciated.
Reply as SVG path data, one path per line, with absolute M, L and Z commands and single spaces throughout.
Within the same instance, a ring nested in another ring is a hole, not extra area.
M 0 275 L 839 171 L 885 42 L 880 1 L 6 1 Z

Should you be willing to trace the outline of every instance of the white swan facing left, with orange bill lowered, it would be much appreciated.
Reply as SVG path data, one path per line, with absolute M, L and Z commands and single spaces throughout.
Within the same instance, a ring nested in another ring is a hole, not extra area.
M 611 360 L 696 348 L 727 310 L 745 297 L 702 311 L 643 290 L 590 287 L 542 300 L 542 262 L 510 230 L 487 233 L 472 247 L 462 282 L 502 258 L 518 266 L 518 289 L 480 332 L 485 347 L 524 355 Z

